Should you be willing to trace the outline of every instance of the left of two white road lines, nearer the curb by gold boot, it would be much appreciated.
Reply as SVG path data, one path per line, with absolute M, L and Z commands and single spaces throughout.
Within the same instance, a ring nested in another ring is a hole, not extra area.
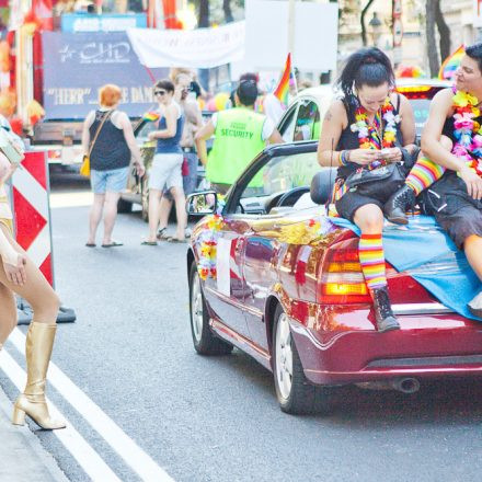
M 26 374 L 4 348 L 0 352 L 0 368 L 12 380 L 19 391 L 24 389 Z M 65 418 L 57 408 L 49 400 L 47 401 L 50 415 L 55 418 Z M 66 428 L 54 431 L 54 434 L 94 482 L 122 482 L 99 454 L 73 428 L 70 422 L 67 423 Z

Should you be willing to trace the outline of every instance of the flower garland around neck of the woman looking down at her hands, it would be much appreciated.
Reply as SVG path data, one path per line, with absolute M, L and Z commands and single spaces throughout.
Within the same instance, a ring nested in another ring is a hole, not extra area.
M 380 114 L 381 111 L 381 114 Z M 397 124 L 401 122 L 399 114 L 394 114 L 394 107 L 387 97 L 381 110 L 377 112 L 374 118 L 374 125 L 368 124 L 368 115 L 362 105 L 355 112 L 355 123 L 349 126 L 353 133 L 358 133 L 358 141 L 360 149 L 382 149 L 393 147 L 397 138 Z M 379 137 L 379 129 L 385 122 L 382 139 Z M 374 161 L 368 169 L 377 169 L 386 165 L 387 161 Z

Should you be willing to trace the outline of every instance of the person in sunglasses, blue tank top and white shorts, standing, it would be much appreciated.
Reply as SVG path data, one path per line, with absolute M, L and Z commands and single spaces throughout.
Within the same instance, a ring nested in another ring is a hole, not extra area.
M 149 234 L 142 241 L 145 245 L 156 245 L 159 226 L 160 202 L 164 186 L 171 191 L 175 202 L 177 228 L 172 242 L 185 242 L 187 215 L 182 180 L 183 150 L 181 137 L 184 127 L 184 114 L 174 100 L 174 84 L 169 79 L 154 85 L 154 96 L 159 102 L 159 130 L 149 133 L 150 140 L 157 140 L 154 159 L 149 173 Z

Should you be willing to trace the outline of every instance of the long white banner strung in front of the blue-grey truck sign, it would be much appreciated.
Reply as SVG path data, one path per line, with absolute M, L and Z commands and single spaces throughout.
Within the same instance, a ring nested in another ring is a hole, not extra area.
M 244 57 L 244 22 L 194 31 L 129 28 L 127 35 L 149 68 L 210 68 Z

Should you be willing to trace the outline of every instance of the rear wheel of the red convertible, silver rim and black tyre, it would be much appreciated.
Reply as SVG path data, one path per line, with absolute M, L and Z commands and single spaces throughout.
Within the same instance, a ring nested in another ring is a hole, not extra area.
M 279 305 L 273 325 L 273 375 L 283 412 L 300 415 L 330 411 L 332 389 L 315 387 L 305 376 L 288 317 Z

